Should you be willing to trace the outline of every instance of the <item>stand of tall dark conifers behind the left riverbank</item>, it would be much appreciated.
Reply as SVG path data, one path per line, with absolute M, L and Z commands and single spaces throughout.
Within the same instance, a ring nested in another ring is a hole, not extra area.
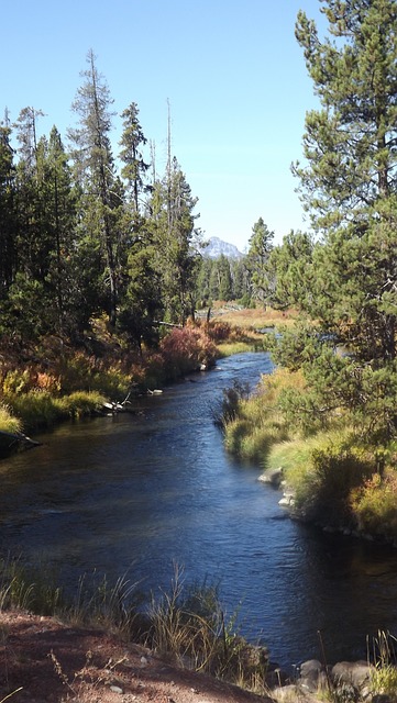
M 37 137 L 41 110 L 0 123 L 0 333 L 78 342 L 95 315 L 140 347 L 156 321 L 184 325 L 198 305 L 254 294 L 249 259 L 203 255 L 197 198 L 168 149 L 155 149 L 132 102 L 120 115 L 115 154 L 112 99 L 90 51 L 73 103 L 77 126 Z M 261 220 L 260 222 L 263 223 Z

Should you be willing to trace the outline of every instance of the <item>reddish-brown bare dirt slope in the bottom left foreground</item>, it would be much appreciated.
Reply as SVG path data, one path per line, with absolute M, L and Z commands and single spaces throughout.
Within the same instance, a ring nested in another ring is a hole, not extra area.
M 11 695 L 10 695 L 11 694 Z M 137 645 L 52 617 L 0 612 L 0 703 L 266 703 Z

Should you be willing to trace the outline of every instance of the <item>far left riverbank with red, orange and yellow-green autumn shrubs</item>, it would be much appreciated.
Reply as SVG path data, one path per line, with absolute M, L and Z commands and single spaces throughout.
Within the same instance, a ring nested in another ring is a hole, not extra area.
M 261 311 L 255 317 L 253 311 L 246 312 L 251 314 L 242 326 L 214 316 L 184 328 L 166 327 L 159 345 L 152 349 L 131 348 L 108 330 L 104 320 L 92 321 L 78 345 L 51 336 L 41 341 L 40 348 L 3 339 L 0 432 L 34 434 L 66 419 L 100 414 L 104 403 L 125 404 L 133 395 L 211 368 L 218 358 L 261 347 L 262 335 L 253 325 L 265 324 L 267 317 Z M 238 313 L 243 322 L 244 311 Z

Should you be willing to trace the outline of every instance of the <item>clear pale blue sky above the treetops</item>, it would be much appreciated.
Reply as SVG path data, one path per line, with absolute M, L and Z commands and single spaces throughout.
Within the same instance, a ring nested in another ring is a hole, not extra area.
M 205 236 L 247 246 L 260 216 L 276 242 L 305 228 L 291 161 L 316 107 L 294 25 L 319 0 L 18 0 L 1 7 L 0 114 L 31 105 L 62 133 L 90 48 L 121 113 L 136 102 L 157 171 L 173 154 L 199 202 Z M 114 148 L 121 119 L 114 118 Z

